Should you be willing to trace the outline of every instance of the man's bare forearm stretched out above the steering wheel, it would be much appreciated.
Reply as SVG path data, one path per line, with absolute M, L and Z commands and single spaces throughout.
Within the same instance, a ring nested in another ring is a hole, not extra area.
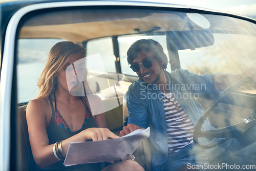
M 217 91 L 224 91 L 229 86 L 231 86 L 233 83 L 239 81 L 240 79 L 246 78 L 246 77 L 252 77 L 254 82 L 256 82 L 256 66 L 250 68 L 249 70 L 245 71 L 242 74 L 216 74 L 214 76 L 214 88 Z

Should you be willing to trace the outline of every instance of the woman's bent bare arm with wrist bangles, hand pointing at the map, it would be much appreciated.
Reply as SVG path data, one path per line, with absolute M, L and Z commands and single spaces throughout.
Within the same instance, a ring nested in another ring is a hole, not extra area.
M 51 108 L 48 106 L 49 101 L 45 99 L 31 100 L 27 106 L 30 145 L 34 160 L 39 167 L 46 167 L 59 161 L 53 154 L 54 144 L 49 144 L 46 131 L 47 120 L 51 117 L 52 113 Z M 47 115 L 49 113 L 50 115 Z M 86 141 L 88 139 L 100 141 L 108 138 L 118 138 L 118 136 L 108 129 L 90 128 L 84 130 L 62 141 L 63 154 L 66 156 L 70 142 Z

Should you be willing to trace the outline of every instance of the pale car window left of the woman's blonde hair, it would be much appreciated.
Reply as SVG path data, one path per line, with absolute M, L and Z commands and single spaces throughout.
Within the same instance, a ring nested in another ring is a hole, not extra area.
M 17 53 L 17 101 L 26 103 L 38 94 L 40 76 L 50 49 L 62 39 L 19 39 Z

